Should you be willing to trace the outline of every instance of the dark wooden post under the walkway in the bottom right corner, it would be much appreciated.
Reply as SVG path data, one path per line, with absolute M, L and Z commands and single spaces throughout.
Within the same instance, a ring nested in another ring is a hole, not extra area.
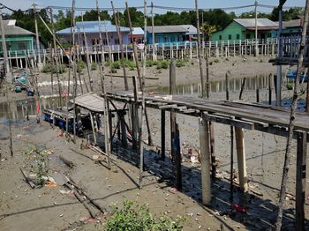
M 296 230 L 305 230 L 305 168 L 307 157 L 307 137 L 305 131 L 298 132 L 298 152 L 296 161 Z

